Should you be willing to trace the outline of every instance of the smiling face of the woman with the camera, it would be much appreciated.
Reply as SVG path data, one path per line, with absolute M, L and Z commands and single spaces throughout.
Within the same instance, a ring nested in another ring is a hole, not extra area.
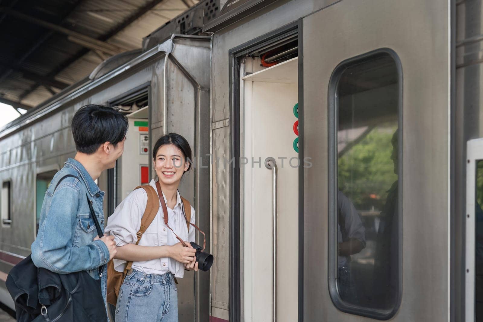
M 179 184 L 189 168 L 185 155 L 174 144 L 164 144 L 157 149 L 154 167 L 159 181 L 165 185 Z

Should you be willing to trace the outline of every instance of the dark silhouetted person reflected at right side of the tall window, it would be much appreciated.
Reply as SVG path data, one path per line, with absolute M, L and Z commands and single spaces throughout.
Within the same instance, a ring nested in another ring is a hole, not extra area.
M 391 138 L 391 160 L 398 175 L 398 130 Z M 374 258 L 374 303 L 389 308 L 395 302 L 398 284 L 398 179 L 387 190 L 386 202 L 379 215 Z

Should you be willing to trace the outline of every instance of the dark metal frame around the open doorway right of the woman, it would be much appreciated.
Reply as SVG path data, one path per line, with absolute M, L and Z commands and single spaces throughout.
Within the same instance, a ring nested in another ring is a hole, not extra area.
M 229 61 L 229 97 L 230 97 L 230 160 L 234 160 L 233 167 L 229 168 L 230 178 L 230 215 L 229 215 L 229 321 L 241 321 L 241 232 L 240 232 L 240 210 L 241 210 L 241 168 L 240 168 L 240 148 L 241 148 L 241 122 L 240 122 L 240 62 L 241 59 L 257 47 L 265 46 L 286 36 L 290 31 L 296 30 L 298 33 L 298 137 L 299 137 L 299 159 L 303 160 L 303 70 L 302 70 L 302 19 L 285 25 L 249 42 L 245 42 L 228 51 Z M 299 167 L 298 172 L 298 224 L 299 224 L 299 247 L 298 247 L 298 321 L 303 321 L 303 167 Z M 300 206 L 300 204 L 302 206 Z M 301 231 L 301 232 L 300 232 Z M 302 317 L 302 318 L 301 318 Z

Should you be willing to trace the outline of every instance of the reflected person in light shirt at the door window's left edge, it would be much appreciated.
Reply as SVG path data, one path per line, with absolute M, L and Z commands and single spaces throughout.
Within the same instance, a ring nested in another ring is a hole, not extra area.
M 351 255 L 366 247 L 366 229 L 351 200 L 337 191 L 338 287 L 342 300 L 356 303 L 357 290 L 351 274 Z

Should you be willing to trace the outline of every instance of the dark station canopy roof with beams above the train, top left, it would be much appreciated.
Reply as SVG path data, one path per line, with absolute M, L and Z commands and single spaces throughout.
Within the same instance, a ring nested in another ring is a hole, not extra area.
M 198 2 L 0 0 L 0 103 L 35 108 Z

